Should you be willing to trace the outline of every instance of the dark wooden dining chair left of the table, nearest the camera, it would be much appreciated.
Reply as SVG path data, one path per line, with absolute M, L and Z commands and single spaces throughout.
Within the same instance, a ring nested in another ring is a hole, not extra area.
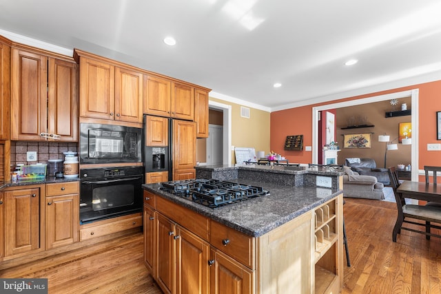
M 395 223 L 395 227 L 393 227 L 393 232 L 392 232 L 392 241 L 397 242 L 397 234 L 401 233 L 401 230 L 422 233 L 426 235 L 427 240 L 429 240 L 431 236 L 441 238 L 441 235 L 431 233 L 430 231 L 431 228 L 441 229 L 440 226 L 432 224 L 432 222 L 441 224 L 441 207 L 406 204 L 404 198 L 402 197 L 402 193 L 397 192 L 397 188 L 400 186 L 400 181 L 398 180 L 398 174 L 395 167 L 389 167 L 388 174 L 398 209 L 397 221 Z M 408 220 L 408 219 L 413 219 L 413 220 Z M 414 220 L 423 220 L 424 223 L 416 222 Z M 403 227 L 402 226 L 403 223 L 423 226 L 425 227 L 425 231 L 412 229 L 410 227 Z

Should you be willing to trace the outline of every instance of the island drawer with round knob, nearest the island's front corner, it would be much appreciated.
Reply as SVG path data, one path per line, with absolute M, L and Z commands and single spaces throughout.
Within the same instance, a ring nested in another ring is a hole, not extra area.
M 210 221 L 209 243 L 250 269 L 255 268 L 256 239 L 235 229 Z

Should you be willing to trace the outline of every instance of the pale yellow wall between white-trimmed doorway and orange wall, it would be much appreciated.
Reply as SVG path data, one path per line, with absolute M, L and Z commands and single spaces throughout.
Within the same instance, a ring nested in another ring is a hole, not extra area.
M 243 118 L 240 116 L 241 105 L 212 97 L 209 97 L 209 100 L 232 106 L 232 145 L 234 147 L 254 148 L 256 152 L 269 153 L 269 112 L 248 107 L 249 118 Z M 234 151 L 232 151 L 232 163 L 235 162 Z

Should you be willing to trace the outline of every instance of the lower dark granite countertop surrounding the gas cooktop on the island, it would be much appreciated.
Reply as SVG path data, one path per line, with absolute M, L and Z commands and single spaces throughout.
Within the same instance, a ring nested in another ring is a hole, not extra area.
M 292 187 L 243 179 L 230 182 L 263 187 L 270 195 L 212 209 L 162 191 L 160 184 L 143 185 L 143 188 L 252 237 L 260 237 L 342 193 L 339 189 Z

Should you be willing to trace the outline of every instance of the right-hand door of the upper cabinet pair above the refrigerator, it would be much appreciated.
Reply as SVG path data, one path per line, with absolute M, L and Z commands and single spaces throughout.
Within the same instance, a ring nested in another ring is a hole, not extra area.
M 172 84 L 172 118 L 194 120 L 194 88 L 181 83 Z

